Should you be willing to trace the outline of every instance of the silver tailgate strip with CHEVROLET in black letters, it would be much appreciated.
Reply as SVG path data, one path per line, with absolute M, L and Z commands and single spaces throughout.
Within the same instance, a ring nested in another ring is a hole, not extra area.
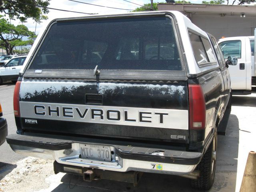
M 69 111 L 65 111 L 67 108 Z M 112 110 L 112 113 L 115 112 L 116 116 L 112 114 L 110 118 L 107 115 L 109 110 Z M 64 115 L 64 111 L 67 114 Z M 126 119 L 125 111 L 128 112 L 129 119 L 136 121 Z M 83 117 L 82 114 L 84 114 Z M 20 116 L 46 120 L 188 130 L 188 110 L 20 102 Z

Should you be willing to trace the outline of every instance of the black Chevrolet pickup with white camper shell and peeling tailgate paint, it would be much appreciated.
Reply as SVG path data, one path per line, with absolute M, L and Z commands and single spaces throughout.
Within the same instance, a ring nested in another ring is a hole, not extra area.
M 230 92 L 217 41 L 180 12 L 59 18 L 20 72 L 6 140 L 55 173 L 134 185 L 174 174 L 207 190 Z

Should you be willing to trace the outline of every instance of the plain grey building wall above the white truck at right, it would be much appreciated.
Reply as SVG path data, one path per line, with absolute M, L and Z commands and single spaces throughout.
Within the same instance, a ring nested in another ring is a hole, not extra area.
M 202 30 L 212 34 L 218 40 L 222 36 L 254 36 L 256 17 L 220 16 L 192 14 L 190 20 Z

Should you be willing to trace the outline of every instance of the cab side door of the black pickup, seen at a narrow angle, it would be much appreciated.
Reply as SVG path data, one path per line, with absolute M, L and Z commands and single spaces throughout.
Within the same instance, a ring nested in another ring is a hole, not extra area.
M 217 59 L 218 59 L 218 63 L 220 65 L 220 70 L 221 70 L 221 73 L 222 73 L 222 77 L 223 77 L 223 80 L 224 80 L 224 86 L 225 86 L 225 103 L 228 102 L 228 94 L 230 92 L 230 74 L 229 74 L 229 71 L 228 71 L 228 68 L 226 67 L 226 62 L 225 62 L 225 59 L 224 59 L 224 56 L 221 52 L 221 49 L 220 49 L 220 46 L 218 45 L 218 42 L 217 40 L 214 38 L 214 36 L 210 35 L 210 38 L 212 40 L 212 43 L 214 44 L 214 47 L 215 47 L 215 52 L 216 52 L 216 55 L 217 55 Z

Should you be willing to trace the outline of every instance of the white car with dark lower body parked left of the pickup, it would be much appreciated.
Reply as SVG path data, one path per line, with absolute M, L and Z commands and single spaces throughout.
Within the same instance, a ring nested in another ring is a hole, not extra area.
M 0 85 L 4 81 L 16 82 L 19 76 L 19 72 L 26 60 L 27 56 L 19 56 L 12 58 L 4 66 L 0 67 Z

